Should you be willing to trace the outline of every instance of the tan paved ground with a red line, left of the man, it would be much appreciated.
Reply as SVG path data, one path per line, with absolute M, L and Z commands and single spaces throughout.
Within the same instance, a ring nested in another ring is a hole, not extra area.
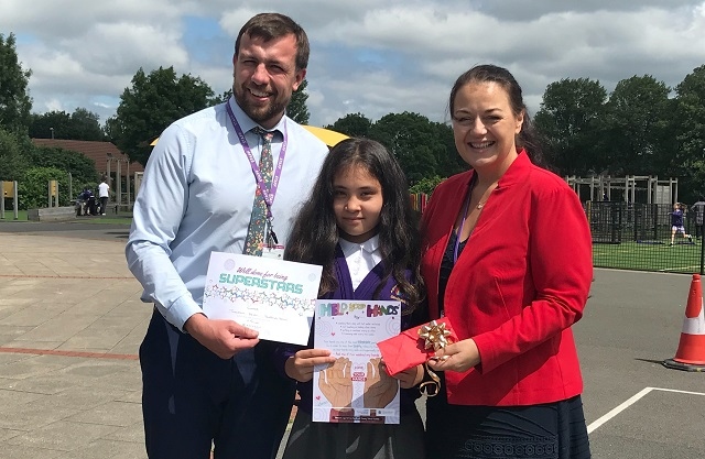
M 0 232 L 0 457 L 145 457 L 137 350 L 151 309 L 124 240 L 9 229 L 22 231 Z

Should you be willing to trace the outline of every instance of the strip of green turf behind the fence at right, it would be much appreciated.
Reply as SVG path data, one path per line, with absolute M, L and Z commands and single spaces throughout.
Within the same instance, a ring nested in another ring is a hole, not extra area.
M 679 237 L 673 247 L 669 245 L 670 239 L 658 242 L 662 243 L 593 244 L 593 265 L 671 273 L 701 272 L 701 241 L 688 244 Z

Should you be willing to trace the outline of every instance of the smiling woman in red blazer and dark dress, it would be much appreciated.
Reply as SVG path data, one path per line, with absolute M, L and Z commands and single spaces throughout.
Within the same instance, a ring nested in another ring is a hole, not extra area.
M 436 352 L 429 457 L 589 458 L 571 326 L 593 278 L 576 194 L 540 167 L 521 88 L 481 65 L 451 91 L 455 144 L 470 171 L 424 211 L 422 274 L 432 317 L 458 341 Z

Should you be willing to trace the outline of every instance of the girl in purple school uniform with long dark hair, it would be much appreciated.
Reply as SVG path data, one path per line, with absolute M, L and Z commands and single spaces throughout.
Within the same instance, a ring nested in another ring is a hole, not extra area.
M 285 258 L 323 265 L 322 298 L 400 300 L 403 330 L 426 321 L 416 221 L 394 156 L 372 140 L 344 140 L 323 164 L 296 218 Z M 423 423 L 414 405 L 420 393 L 410 389 L 421 382 L 421 367 L 395 375 L 402 387 L 400 424 L 313 422 L 314 365 L 334 364 L 330 371 L 344 374 L 338 370 L 344 364 L 349 369 L 350 362 L 345 356 L 336 361 L 329 350 L 313 349 L 313 335 L 312 329 L 308 348 L 283 347 L 279 363 L 282 372 L 299 382 L 301 394 L 283 458 L 424 459 Z M 398 383 L 383 368 L 379 374 L 377 384 L 390 387 L 378 389 L 389 397 L 384 398 L 388 404 Z M 367 378 L 373 379 L 369 372 Z M 351 387 L 350 378 L 345 381 Z

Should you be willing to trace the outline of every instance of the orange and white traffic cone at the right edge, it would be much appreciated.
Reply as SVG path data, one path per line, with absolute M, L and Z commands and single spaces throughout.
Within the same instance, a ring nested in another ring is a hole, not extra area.
M 679 350 L 663 364 L 677 370 L 705 371 L 705 307 L 699 274 L 693 274 L 691 282 Z

